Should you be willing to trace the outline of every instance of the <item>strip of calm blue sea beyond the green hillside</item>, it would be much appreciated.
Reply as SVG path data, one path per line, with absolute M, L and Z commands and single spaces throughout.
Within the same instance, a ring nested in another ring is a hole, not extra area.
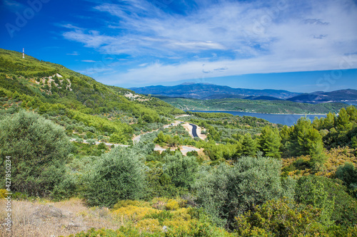
M 279 123 L 281 125 L 294 125 L 300 117 L 308 117 L 309 120 L 313 120 L 315 117 L 326 117 L 326 115 L 274 115 L 274 114 L 260 114 L 256 112 L 238 112 L 238 111 L 213 111 L 213 110 L 190 110 L 191 112 L 227 112 L 231 115 L 238 116 L 251 116 L 259 117 L 269 122 Z

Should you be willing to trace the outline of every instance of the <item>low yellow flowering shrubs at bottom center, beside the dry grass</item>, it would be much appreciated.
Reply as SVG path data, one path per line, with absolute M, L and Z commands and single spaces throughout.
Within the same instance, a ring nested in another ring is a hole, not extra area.
M 209 221 L 206 223 L 191 216 L 192 210 L 186 207 L 186 201 L 182 199 L 160 197 L 151 201 L 122 200 L 114 205 L 111 212 L 121 224 L 121 231 L 124 228 L 130 230 L 130 233 L 126 233 L 128 236 L 136 236 L 135 231 L 138 231 L 138 236 L 145 233 L 144 236 L 155 237 L 229 236 Z

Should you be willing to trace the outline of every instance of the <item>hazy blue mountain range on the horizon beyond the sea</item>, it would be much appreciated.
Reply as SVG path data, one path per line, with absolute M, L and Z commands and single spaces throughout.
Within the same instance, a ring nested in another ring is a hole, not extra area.
M 237 98 L 245 100 L 289 100 L 293 102 L 321 103 L 345 102 L 357 104 L 357 90 L 346 89 L 332 92 L 316 91 L 313 93 L 293 93 L 287 90 L 254 90 L 231 88 L 226 85 L 208 83 L 183 83 L 181 85 L 164 86 L 151 85 L 144 88 L 130 88 L 136 93 L 163 95 L 171 98 L 194 98 L 200 100 L 215 100 Z

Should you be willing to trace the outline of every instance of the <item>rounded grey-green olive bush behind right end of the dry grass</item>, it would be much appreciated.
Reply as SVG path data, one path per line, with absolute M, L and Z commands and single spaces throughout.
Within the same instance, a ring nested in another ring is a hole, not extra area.
M 111 149 L 111 152 L 102 154 L 89 170 L 81 190 L 89 206 L 112 207 L 119 200 L 143 196 L 144 166 L 133 149 Z

